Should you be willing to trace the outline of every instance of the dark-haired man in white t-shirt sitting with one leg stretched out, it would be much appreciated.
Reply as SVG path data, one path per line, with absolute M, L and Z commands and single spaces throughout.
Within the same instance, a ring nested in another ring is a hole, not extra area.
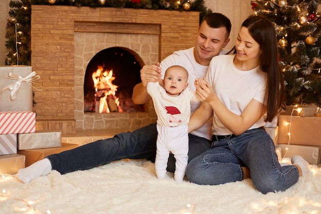
M 162 63 L 155 66 L 144 66 L 141 70 L 142 83 L 137 84 L 133 91 L 133 101 L 144 104 L 151 100 L 146 90 L 147 82 L 160 81 L 165 70 L 172 65 L 184 67 L 189 72 L 189 86 L 195 90 L 195 78 L 203 78 L 212 57 L 225 54 L 223 50 L 230 41 L 231 23 L 220 13 L 211 13 L 204 17 L 197 32 L 195 47 L 175 51 Z M 191 103 L 191 113 L 200 102 Z M 189 134 L 188 161 L 210 148 L 212 121 Z M 18 171 L 18 178 L 30 182 L 38 176 L 45 176 L 50 170 L 61 174 L 76 170 L 90 169 L 112 161 L 128 159 L 155 160 L 157 130 L 156 123 L 139 128 L 133 132 L 119 133 L 111 139 L 99 140 L 58 154 L 52 154 L 31 166 Z M 175 163 L 171 156 L 167 170 L 174 172 Z

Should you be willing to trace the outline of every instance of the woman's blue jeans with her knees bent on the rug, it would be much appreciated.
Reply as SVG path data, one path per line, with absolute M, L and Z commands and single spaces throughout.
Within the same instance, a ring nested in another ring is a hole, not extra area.
M 186 175 L 190 182 L 218 185 L 242 181 L 243 166 L 250 169 L 253 184 L 262 193 L 284 191 L 298 181 L 295 166 L 280 166 L 274 143 L 263 128 L 214 141 L 212 146 L 188 164 Z

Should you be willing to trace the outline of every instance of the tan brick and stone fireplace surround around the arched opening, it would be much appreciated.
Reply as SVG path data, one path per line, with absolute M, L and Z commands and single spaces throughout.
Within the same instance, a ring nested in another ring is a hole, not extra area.
M 155 122 L 151 102 L 142 111 L 85 112 L 86 69 L 96 54 L 115 47 L 136 54 L 140 66 L 154 64 L 192 47 L 198 25 L 195 11 L 32 5 L 31 66 L 43 86 L 34 92 L 36 129 L 134 130 Z

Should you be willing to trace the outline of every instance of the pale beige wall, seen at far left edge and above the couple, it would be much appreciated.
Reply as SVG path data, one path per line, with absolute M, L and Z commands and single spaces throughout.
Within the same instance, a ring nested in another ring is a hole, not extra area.
M 193 1 L 193 0 L 191 0 Z M 10 0 L 1 0 L 0 7 L 0 66 L 5 65 L 7 49 L 6 42 L 6 25 L 7 18 L 9 17 L 9 3 Z M 234 46 L 236 34 L 242 22 L 252 12 L 251 0 L 204 0 L 205 6 L 213 12 L 219 12 L 230 18 L 232 23 L 231 42 L 228 44 L 227 49 Z

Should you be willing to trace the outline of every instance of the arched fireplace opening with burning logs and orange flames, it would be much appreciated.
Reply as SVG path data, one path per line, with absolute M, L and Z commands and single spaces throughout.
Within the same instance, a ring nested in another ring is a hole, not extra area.
M 141 57 L 128 48 L 99 51 L 86 68 L 84 111 L 145 112 L 144 105 L 135 105 L 131 98 L 134 86 L 141 82 L 143 66 Z

